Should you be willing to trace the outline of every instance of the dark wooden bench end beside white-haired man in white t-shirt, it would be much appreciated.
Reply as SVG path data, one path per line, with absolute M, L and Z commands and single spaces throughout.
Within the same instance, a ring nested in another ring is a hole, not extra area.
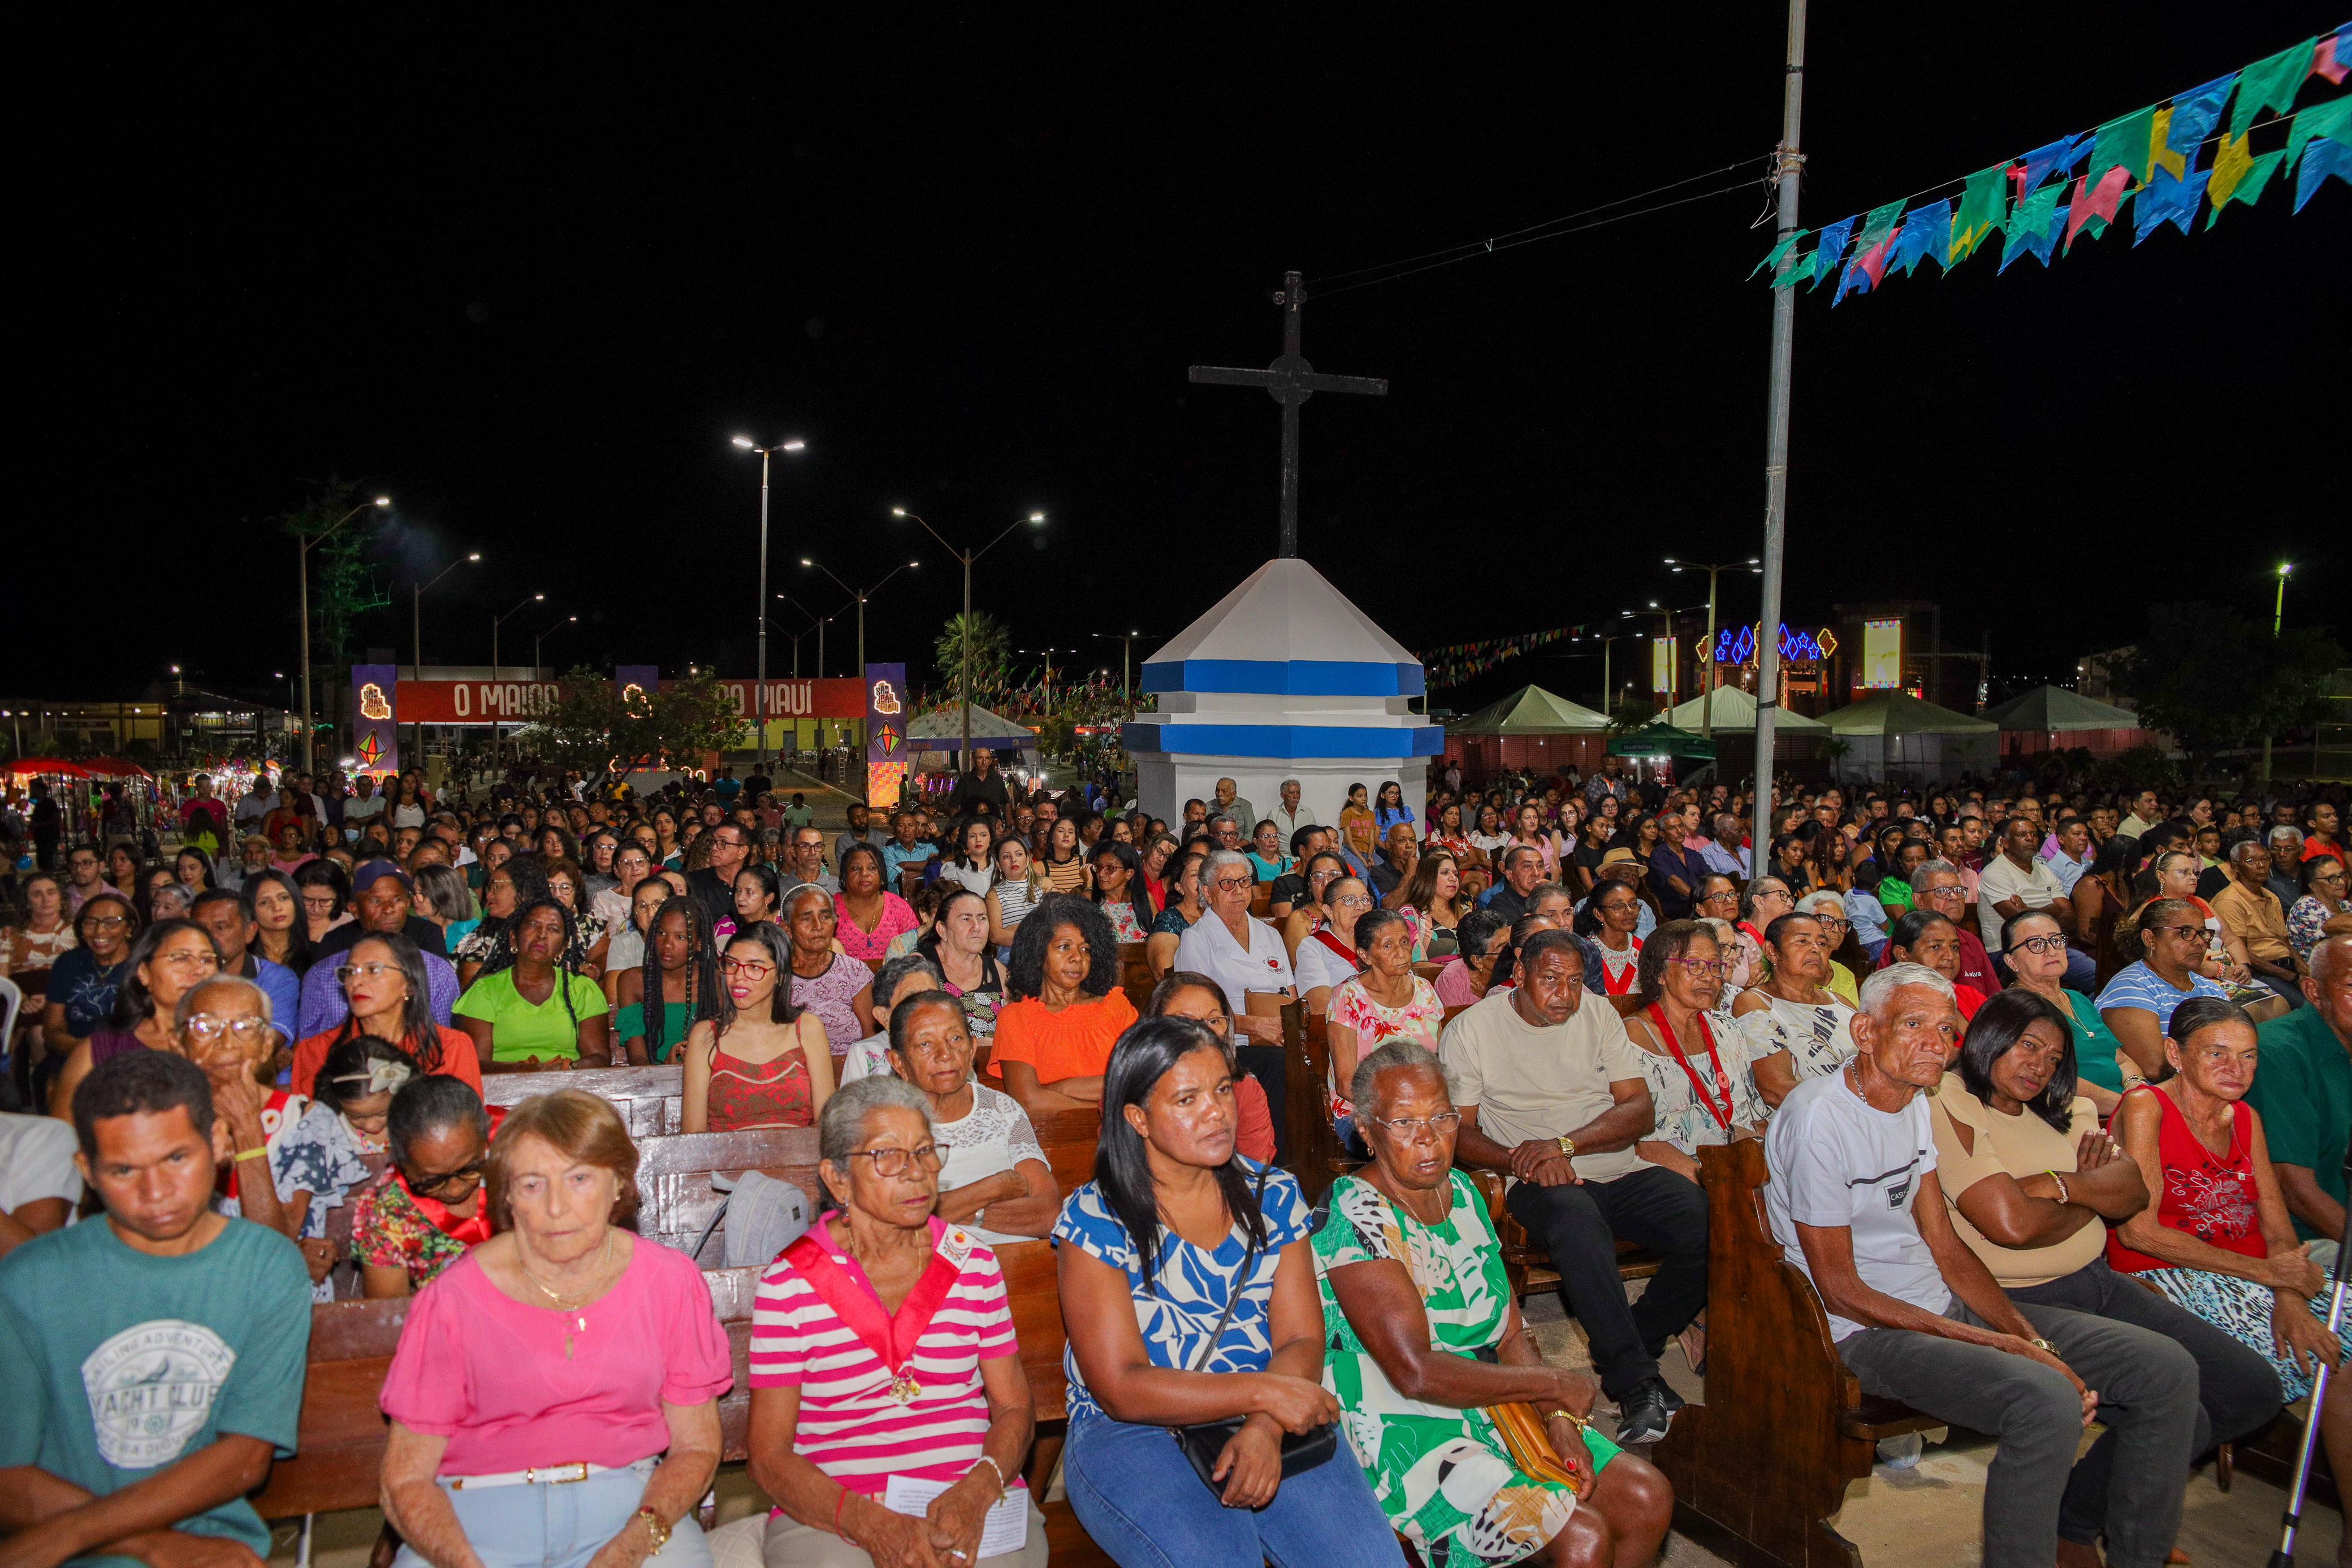
M 1860 1568 L 1830 1516 L 1870 1474 L 1882 1436 L 1945 1422 L 1867 1399 L 1837 1359 L 1813 1281 L 1764 1218 L 1764 1145 L 1698 1152 L 1708 1187 L 1708 1401 L 1675 1415 L 1651 1462 L 1675 1523 L 1743 1563 Z M 1719 1544 L 1722 1542 L 1722 1544 Z

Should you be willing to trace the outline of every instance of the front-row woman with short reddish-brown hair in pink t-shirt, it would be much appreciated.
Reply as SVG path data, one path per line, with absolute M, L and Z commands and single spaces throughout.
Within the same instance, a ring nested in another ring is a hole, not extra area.
M 423 1288 L 383 1380 L 397 1568 L 708 1568 L 691 1512 L 734 1361 L 694 1260 L 621 1229 L 637 1150 L 619 1112 L 576 1088 L 524 1100 L 485 1180 L 501 1234 Z

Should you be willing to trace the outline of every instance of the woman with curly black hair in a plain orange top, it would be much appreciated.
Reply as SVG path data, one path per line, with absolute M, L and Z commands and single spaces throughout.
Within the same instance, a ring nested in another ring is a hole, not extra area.
M 1037 900 L 1014 933 L 1007 987 L 1021 997 L 997 1009 L 993 1065 L 1004 1093 L 1040 1114 L 1103 1103 L 1110 1046 L 1136 1020 L 1120 985 L 1120 943 L 1103 910 L 1075 893 Z

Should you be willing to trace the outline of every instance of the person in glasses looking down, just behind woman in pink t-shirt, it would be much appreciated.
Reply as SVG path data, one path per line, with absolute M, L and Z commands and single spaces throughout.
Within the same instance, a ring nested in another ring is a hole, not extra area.
M 350 1208 L 350 1255 L 369 1300 L 423 1291 L 492 1229 L 482 1095 L 452 1077 L 409 1079 L 393 1095 L 383 1135 L 393 1168 Z

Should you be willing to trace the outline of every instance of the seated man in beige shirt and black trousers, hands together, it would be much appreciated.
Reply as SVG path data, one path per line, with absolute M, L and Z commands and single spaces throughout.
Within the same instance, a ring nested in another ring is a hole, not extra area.
M 1682 1408 L 1658 1354 L 1708 1305 L 1708 1194 L 1635 1152 L 1658 1112 L 1625 1020 L 1585 997 L 1576 936 L 1531 936 L 1519 985 L 1461 1013 L 1437 1053 L 1463 1114 L 1456 1164 L 1512 1178 L 1510 1213 L 1552 1253 L 1592 1371 L 1618 1403 L 1618 1439 L 1658 1441 Z M 1665 1258 L 1632 1305 L 1618 1239 Z

